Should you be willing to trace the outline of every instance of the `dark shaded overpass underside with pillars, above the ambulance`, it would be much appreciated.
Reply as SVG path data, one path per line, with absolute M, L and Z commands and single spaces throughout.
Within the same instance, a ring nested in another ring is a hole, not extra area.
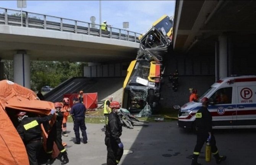
M 255 36 L 253 0 L 176 1 L 173 50 L 181 75 L 255 74 Z

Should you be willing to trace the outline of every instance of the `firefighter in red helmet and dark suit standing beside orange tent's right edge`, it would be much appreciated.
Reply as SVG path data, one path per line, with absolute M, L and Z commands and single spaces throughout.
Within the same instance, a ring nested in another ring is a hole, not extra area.
M 46 153 L 48 154 L 48 160 L 46 165 L 53 163 L 53 159 L 52 159 L 53 142 L 56 143 L 58 150 L 60 151 L 60 157 L 63 157 L 63 159 L 61 160 L 62 160 L 62 165 L 64 165 L 68 163 L 69 160 L 68 160 L 66 149 L 62 145 L 62 121 L 63 121 L 63 113 L 61 112 L 62 103 L 59 103 L 59 102 L 54 103 L 54 106 L 56 110 L 56 122 L 53 124 L 47 138 Z

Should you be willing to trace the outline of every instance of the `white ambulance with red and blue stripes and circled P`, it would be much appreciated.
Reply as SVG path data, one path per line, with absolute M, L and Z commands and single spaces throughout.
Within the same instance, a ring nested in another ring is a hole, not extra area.
M 256 75 L 226 77 L 215 82 L 197 102 L 184 104 L 178 126 L 193 128 L 201 99 L 209 98 L 212 128 L 256 128 Z

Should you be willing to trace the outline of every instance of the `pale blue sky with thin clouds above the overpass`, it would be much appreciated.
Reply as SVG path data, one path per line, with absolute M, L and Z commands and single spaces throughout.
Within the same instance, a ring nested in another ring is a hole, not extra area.
M 132 32 L 144 33 L 162 15 L 174 15 L 175 0 L 27 0 L 23 11 L 91 22 L 90 17 L 123 29 L 123 22 L 129 22 Z M 0 8 L 21 10 L 16 0 L 0 0 Z

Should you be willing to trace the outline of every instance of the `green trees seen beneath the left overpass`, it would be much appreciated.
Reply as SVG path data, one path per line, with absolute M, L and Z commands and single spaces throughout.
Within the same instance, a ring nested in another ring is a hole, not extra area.
M 4 76 L 13 81 L 13 61 L 3 60 Z M 86 62 L 31 61 L 31 89 L 39 90 L 43 86 L 56 87 L 72 77 L 82 77 Z

